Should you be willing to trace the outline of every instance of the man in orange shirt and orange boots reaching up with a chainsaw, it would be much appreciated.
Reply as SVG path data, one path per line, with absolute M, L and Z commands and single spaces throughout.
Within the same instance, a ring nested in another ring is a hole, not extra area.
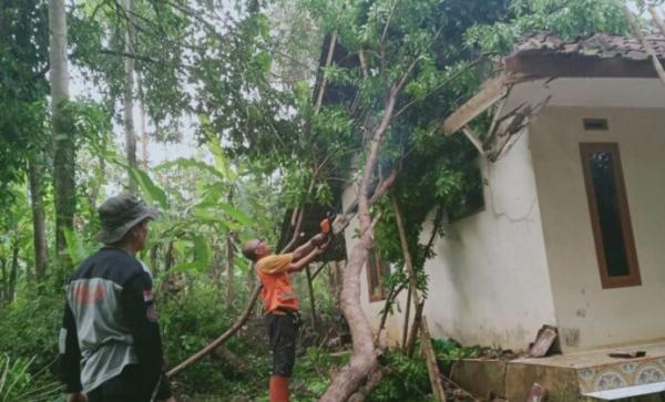
M 243 255 L 254 262 L 263 284 L 262 297 L 266 307 L 273 371 L 270 402 L 288 402 L 288 382 L 296 360 L 296 338 L 300 321 L 298 297 L 289 274 L 301 271 L 324 252 L 326 235 L 318 234 L 294 252 L 273 254 L 264 239 L 253 239 L 243 246 Z

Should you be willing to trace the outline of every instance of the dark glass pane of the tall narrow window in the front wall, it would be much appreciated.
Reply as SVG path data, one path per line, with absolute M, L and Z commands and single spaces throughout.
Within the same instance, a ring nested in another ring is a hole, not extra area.
M 587 162 L 601 226 L 603 252 L 607 262 L 607 275 L 627 276 L 631 270 L 621 226 L 614 155 L 610 151 L 591 152 L 587 154 Z

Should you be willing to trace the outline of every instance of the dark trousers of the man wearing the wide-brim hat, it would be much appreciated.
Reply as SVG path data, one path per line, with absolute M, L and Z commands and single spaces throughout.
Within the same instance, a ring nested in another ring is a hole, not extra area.
M 88 402 L 150 402 L 142 391 L 141 373 L 136 365 L 126 365 L 120 375 L 102 383 L 88 393 Z

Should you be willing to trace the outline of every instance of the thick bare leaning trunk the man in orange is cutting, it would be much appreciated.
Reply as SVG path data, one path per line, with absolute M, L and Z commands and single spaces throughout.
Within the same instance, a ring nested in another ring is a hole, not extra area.
M 403 81 L 403 80 L 402 80 Z M 386 100 L 383 117 L 372 130 L 374 135 L 367 142 L 369 152 L 358 188 L 358 220 L 360 221 L 360 240 L 354 247 L 344 271 L 341 290 L 341 309 L 351 331 L 354 352 L 347 365 L 332 379 L 321 402 L 346 401 L 358 389 L 365 375 L 377 365 L 377 353 L 371 336 L 371 328 L 365 311 L 360 307 L 360 272 L 367 261 L 367 252 L 374 244 L 371 216 L 369 214 L 369 186 L 379 158 L 379 148 L 383 135 L 392 120 L 397 95 L 402 82 L 391 86 Z

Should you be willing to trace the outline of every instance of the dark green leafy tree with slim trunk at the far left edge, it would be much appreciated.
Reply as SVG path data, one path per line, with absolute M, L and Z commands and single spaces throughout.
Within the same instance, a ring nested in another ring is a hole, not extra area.
M 47 162 L 45 97 L 48 4 L 40 0 L 0 4 L 0 204 L 16 202 L 9 186 L 28 173 L 34 227 L 37 276 L 47 265 L 43 209 Z

